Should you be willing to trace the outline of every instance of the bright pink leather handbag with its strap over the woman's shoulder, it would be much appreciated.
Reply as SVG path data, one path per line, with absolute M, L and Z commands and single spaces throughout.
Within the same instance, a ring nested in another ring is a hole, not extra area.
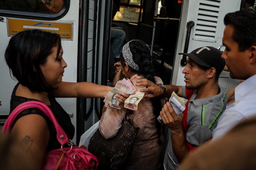
M 42 110 L 52 121 L 57 132 L 60 145 L 68 144 L 70 147 L 54 149 L 46 153 L 43 170 L 95 170 L 98 167 L 98 159 L 84 147 L 77 147 L 68 140 L 62 127 L 57 122 L 51 109 L 42 102 L 29 101 L 17 106 L 9 115 L 2 128 L 2 133 L 10 130 L 15 117 L 24 109 L 38 108 Z

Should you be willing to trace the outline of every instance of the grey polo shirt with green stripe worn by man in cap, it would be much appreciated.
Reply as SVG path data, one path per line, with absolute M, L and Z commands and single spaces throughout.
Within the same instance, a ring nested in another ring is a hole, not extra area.
M 198 147 L 212 138 L 212 131 L 217 126 L 218 118 L 226 108 L 226 93 L 219 86 L 220 93 L 208 98 L 197 99 L 195 90 L 188 103 L 188 131 L 186 141 L 192 146 Z M 182 96 L 186 99 L 185 86 L 182 86 Z M 172 142 L 169 143 L 164 156 L 164 169 L 176 170 L 179 163 L 172 150 Z

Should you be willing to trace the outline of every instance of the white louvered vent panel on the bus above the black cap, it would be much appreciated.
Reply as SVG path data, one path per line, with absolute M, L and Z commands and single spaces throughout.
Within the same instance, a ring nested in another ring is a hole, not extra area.
M 200 0 L 193 39 L 215 42 L 220 12 L 220 0 Z

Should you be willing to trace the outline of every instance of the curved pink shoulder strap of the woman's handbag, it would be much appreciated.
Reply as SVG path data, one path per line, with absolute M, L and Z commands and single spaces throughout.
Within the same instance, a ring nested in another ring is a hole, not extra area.
M 7 132 L 10 130 L 10 127 L 12 125 L 12 122 L 14 121 L 15 117 L 23 110 L 29 109 L 29 108 L 38 108 L 42 110 L 52 121 L 56 132 L 57 132 L 57 139 L 60 143 L 60 145 L 65 145 L 68 143 L 68 137 L 65 133 L 65 131 L 62 129 L 62 127 L 59 125 L 57 122 L 54 114 L 52 113 L 52 110 L 44 103 L 38 102 L 38 101 L 29 101 L 29 102 L 24 102 L 20 105 L 18 105 L 12 113 L 8 116 L 8 119 L 4 123 L 4 126 L 2 128 L 2 133 Z

